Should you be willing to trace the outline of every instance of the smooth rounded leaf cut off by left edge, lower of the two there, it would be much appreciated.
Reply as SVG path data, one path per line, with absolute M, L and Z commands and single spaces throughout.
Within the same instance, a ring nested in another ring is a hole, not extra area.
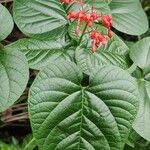
M 23 93 L 29 77 L 28 63 L 19 51 L 0 50 L 0 112 Z

